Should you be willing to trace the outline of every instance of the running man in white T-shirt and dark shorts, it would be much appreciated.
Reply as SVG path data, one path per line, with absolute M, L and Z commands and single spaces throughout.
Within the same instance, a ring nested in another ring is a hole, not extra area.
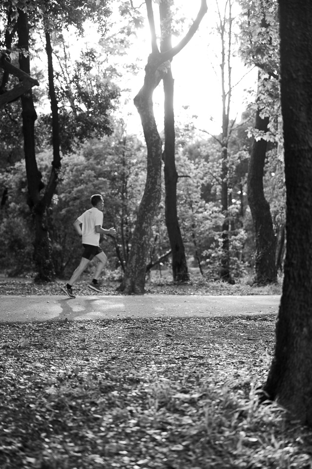
M 103 224 L 103 197 L 100 194 L 95 194 L 91 196 L 92 208 L 86 210 L 80 217 L 77 218 L 74 226 L 79 236 L 82 236 L 82 245 L 83 253 L 80 264 L 77 269 L 74 271 L 71 279 L 68 283 L 61 287 L 64 293 L 69 298 L 76 298 L 73 294 L 72 286 L 77 282 L 78 278 L 94 257 L 98 260 L 98 265 L 94 274 L 94 278 L 89 288 L 92 290 L 102 292 L 100 284 L 98 283 L 98 277 L 102 272 L 103 268 L 107 264 L 107 257 L 104 254 L 102 248 L 99 246 L 99 237 L 100 234 L 109 234 L 112 236 L 116 235 L 116 229 L 104 229 L 102 228 Z

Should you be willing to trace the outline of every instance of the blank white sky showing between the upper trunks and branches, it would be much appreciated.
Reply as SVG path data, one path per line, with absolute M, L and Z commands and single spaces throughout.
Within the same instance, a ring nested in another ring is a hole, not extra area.
M 224 5 L 225 0 L 218 0 L 220 8 Z M 200 7 L 200 0 L 180 0 L 176 2 L 181 8 L 188 20 L 195 18 Z M 145 6 L 143 5 L 143 12 Z M 157 14 L 157 5 L 155 4 L 155 16 Z M 237 14 L 234 11 L 233 14 Z M 216 1 L 208 2 L 208 12 L 202 20 L 199 30 L 191 39 L 188 45 L 181 51 L 172 62 L 173 76 L 175 79 L 175 115 L 176 121 L 191 119 L 195 121 L 197 128 L 203 128 L 210 133 L 217 134 L 221 129 L 222 122 L 222 100 L 221 100 L 221 82 L 220 82 L 220 66 L 221 61 L 221 43 L 217 36 L 212 37 L 211 31 L 215 27 L 217 21 Z M 183 27 L 183 34 L 188 29 L 186 22 Z M 175 38 L 176 41 L 179 38 Z M 138 31 L 138 41 L 130 57 L 137 54 L 138 58 L 143 59 L 142 70 L 131 79 L 131 88 L 133 90 L 132 98 L 143 84 L 144 66 L 150 53 L 150 33 L 148 25 Z M 232 57 L 232 83 L 238 83 L 233 89 L 232 106 L 230 118 L 237 116 L 237 122 L 240 121 L 241 113 L 246 108 L 247 93 L 245 88 L 252 87 L 255 89 L 257 72 L 243 66 L 240 59 Z M 246 75 L 247 74 L 247 75 Z M 243 78 L 244 77 L 244 78 Z M 251 97 L 249 96 L 249 100 Z M 183 106 L 189 106 L 187 110 Z M 129 111 L 132 116 L 128 120 L 128 128 L 130 131 L 137 131 L 141 123 L 137 110 L 131 100 L 129 103 Z M 154 112 L 159 130 L 163 126 L 163 92 L 162 85 L 154 92 Z M 193 115 L 197 115 L 197 119 L 192 119 Z

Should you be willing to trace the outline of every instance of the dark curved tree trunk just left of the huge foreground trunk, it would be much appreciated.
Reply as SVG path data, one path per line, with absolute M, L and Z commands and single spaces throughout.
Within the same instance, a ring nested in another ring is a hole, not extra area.
M 255 117 L 255 128 L 266 132 L 268 124 L 269 118 L 261 119 L 260 109 L 258 109 Z M 263 191 L 263 170 L 266 151 L 266 140 L 254 140 L 247 178 L 248 203 L 255 230 L 255 283 L 262 285 L 276 282 L 276 239 L 270 205 Z

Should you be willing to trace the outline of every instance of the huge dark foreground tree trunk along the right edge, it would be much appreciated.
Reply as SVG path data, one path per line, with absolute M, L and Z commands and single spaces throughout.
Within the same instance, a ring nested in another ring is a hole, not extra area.
M 286 259 L 264 390 L 312 425 L 312 2 L 280 0 Z

